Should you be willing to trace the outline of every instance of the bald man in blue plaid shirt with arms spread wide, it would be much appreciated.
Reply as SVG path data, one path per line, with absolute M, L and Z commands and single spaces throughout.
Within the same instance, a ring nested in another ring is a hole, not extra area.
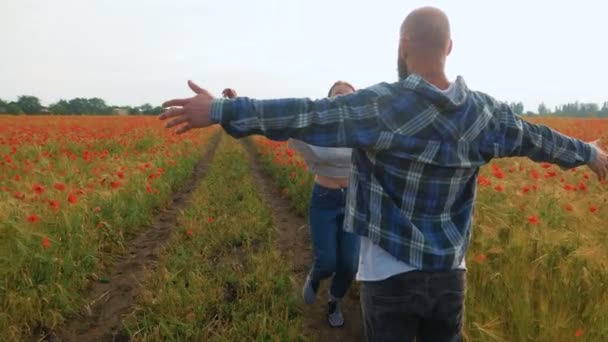
M 446 15 L 421 8 L 401 26 L 399 81 L 320 100 L 171 100 L 161 119 L 178 132 L 221 124 L 240 138 L 262 134 L 353 148 L 344 229 L 361 236 L 361 306 L 369 341 L 458 341 L 465 254 L 479 168 L 526 156 L 563 168 L 588 165 L 600 179 L 608 157 L 587 143 L 526 122 L 508 105 L 448 80 Z

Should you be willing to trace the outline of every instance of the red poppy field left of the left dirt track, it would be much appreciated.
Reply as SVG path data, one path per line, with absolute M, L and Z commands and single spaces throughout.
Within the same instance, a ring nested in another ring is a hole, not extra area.
M 144 117 L 0 117 L 0 340 L 75 314 L 212 131 L 177 137 Z

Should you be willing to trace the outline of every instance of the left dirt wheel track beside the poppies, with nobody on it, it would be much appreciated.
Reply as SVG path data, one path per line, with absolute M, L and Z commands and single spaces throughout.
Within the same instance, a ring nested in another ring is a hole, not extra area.
M 120 335 L 122 318 L 134 304 L 145 275 L 154 268 L 180 211 L 204 178 L 221 136 L 218 134 L 212 138 L 209 150 L 196 165 L 192 176 L 173 194 L 167 205 L 157 211 L 152 223 L 128 242 L 127 252 L 113 263 L 109 282 L 91 285 L 89 304 L 83 308 L 82 315 L 46 336 L 46 341 L 128 340 L 128 337 Z

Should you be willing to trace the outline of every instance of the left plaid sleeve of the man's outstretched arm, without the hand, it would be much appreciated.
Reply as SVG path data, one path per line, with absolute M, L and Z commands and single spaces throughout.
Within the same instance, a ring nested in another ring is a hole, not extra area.
M 218 99 L 211 104 L 211 120 L 236 138 L 261 134 L 318 146 L 368 147 L 381 130 L 378 98 L 371 90 L 361 90 L 320 100 Z

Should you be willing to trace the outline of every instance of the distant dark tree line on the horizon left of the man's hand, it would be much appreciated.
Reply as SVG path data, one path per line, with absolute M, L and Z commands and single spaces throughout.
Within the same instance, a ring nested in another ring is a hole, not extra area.
M 161 107 L 149 103 L 141 106 L 111 106 L 103 99 L 77 97 L 71 100 L 59 100 L 44 107 L 36 96 L 23 95 L 17 101 L 7 102 L 0 99 L 0 114 L 54 114 L 54 115 L 158 115 Z

